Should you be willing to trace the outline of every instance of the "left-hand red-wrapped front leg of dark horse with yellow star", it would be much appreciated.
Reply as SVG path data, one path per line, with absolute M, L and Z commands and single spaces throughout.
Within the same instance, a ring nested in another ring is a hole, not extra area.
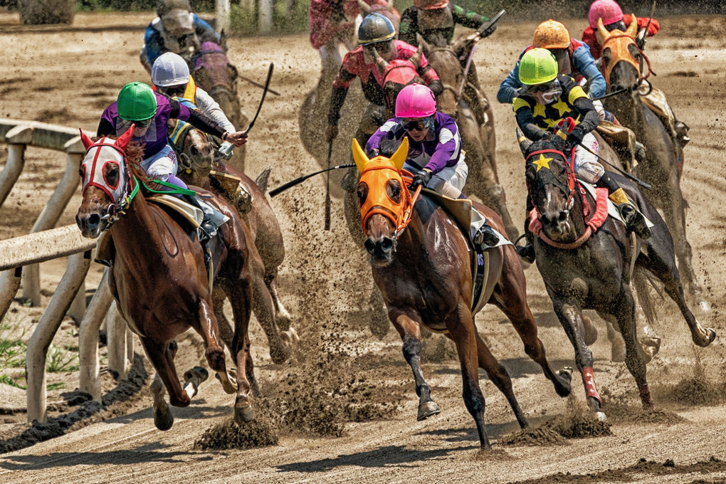
M 598 419 L 605 420 L 605 414 L 602 411 L 603 399 L 600 398 L 600 393 L 597 393 L 597 387 L 595 387 L 592 351 L 585 343 L 585 330 L 579 301 L 575 298 L 552 298 L 552 305 L 575 350 L 575 364 L 577 370 L 582 374 L 587 405 L 595 412 Z

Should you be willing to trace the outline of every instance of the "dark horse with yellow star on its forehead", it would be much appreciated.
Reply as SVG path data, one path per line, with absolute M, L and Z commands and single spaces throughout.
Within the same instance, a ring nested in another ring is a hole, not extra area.
M 648 271 L 664 284 L 688 323 L 693 343 L 706 347 L 716 333 L 711 328 L 703 329 L 685 302 L 673 239 L 653 205 L 627 179 L 610 174 L 629 200 L 653 222 L 651 237 L 641 240 L 631 234 L 629 242 L 624 223 L 608 216 L 607 189 L 597 189 L 596 199 L 586 194 L 563 155 L 564 141 L 553 139 L 520 141 L 526 158 L 527 192 L 534 206 L 530 229 L 538 236 L 534 237 L 537 268 L 560 324 L 574 346 L 590 409 L 598 418 L 606 419 L 595 386 L 592 352 L 585 344 L 583 309 L 594 309 L 619 327 L 625 341 L 625 364 L 635 378 L 643 407 L 650 408 L 653 398 L 645 378 L 643 350 L 636 340 L 635 303 L 629 287 L 632 269 Z M 647 291 L 638 296 L 641 303 L 648 303 Z

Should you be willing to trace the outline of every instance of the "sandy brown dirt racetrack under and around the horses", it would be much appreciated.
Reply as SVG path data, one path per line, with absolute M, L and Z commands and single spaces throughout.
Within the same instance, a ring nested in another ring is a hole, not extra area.
M 5 50 L 4 78 L 0 80 L 0 116 L 94 131 L 101 110 L 115 99 L 123 83 L 147 81 L 138 51 L 142 28 L 148 20 L 147 15 L 78 15 L 73 28 L 2 25 L 0 44 L 10 47 Z M 569 21 L 566 25 L 572 33 L 579 33 L 584 21 Z M 531 23 L 505 23 L 478 49 L 479 77 L 490 99 L 494 99 L 499 81 L 520 49 L 531 41 L 534 27 Z M 200 451 L 193 448 L 195 440 L 231 417 L 233 399 L 224 395 L 216 382 L 206 382 L 192 406 L 174 409 L 174 427 L 159 432 L 148 409 L 150 398 L 143 390 L 142 401 L 131 406 L 134 413 L 1 455 L 0 481 L 378 483 L 431 478 L 439 483 L 723 482 L 726 374 L 722 367 L 726 353 L 721 311 L 726 305 L 726 268 L 722 263 L 726 255 L 726 218 L 719 204 L 726 192 L 722 152 L 726 137 L 720 129 L 726 110 L 726 81 L 720 72 L 726 61 L 726 41 L 717 33 L 725 27 L 723 17 L 672 17 L 661 22 L 661 33 L 648 43 L 647 52 L 658 73 L 654 83 L 666 92 L 677 115 L 691 127 L 693 141 L 686 149 L 682 182 L 690 204 L 688 235 L 696 274 L 711 303 L 711 313 L 701 322 L 716 329 L 721 338 L 709 348 L 694 347 L 676 306 L 670 300 L 661 304 L 656 331 L 664 342 L 648 365 L 658 411 L 642 414 L 638 410 L 635 382 L 624 364 L 609 361 L 604 327 L 595 318 L 601 334 L 592 347 L 595 379 L 601 392 L 610 395 L 604 410 L 613 424 L 612 435 L 558 440 L 547 446 L 526 446 L 521 440 L 505 443 L 513 440 L 510 434 L 518 426 L 503 396 L 482 375 L 486 421 L 496 449 L 482 453 L 478 450 L 476 427 L 460 396 L 457 361 L 445 351 L 440 361 L 430 360 L 423 366 L 442 413 L 416 422 L 417 398 L 410 369 L 401 356 L 399 338 L 389 332 L 378 341 L 365 327 L 359 305 L 364 297 L 361 295 L 366 295 L 370 287 L 370 269 L 353 249 L 339 202 L 333 214 L 338 225 L 330 233 L 322 231 L 325 179 L 317 179 L 272 202 L 287 248 L 280 292 L 296 317 L 306 352 L 294 358 L 295 364 L 272 364 L 264 336 L 253 324 L 258 379 L 264 387 L 264 399 L 258 400 L 256 407 L 263 424 L 261 432 L 265 422 L 274 417 L 266 411 L 279 408 L 275 399 L 285 391 L 290 392 L 288 403 L 298 405 L 295 422 L 299 428 L 321 430 L 328 418 L 338 422 L 335 405 L 348 401 L 378 415 L 378 419 L 367 419 L 361 411 L 357 419 L 364 422 L 346 423 L 341 437 L 285 430 L 294 429 L 293 422 L 285 429 L 272 430 L 279 436 L 276 446 Z M 706 38 L 703 33 L 710 36 Z M 267 98 L 250 137 L 249 173 L 255 176 L 272 166 L 270 185 L 277 186 L 317 169 L 317 163 L 298 141 L 297 109 L 302 94 L 317 82 L 319 64 L 317 52 L 310 48 L 306 37 L 233 39 L 230 58 L 241 73 L 258 80 L 264 78 L 268 62 L 274 60 L 272 87 L 282 93 L 282 97 Z M 260 91 L 245 83 L 240 87 L 249 115 Z M 499 176 L 510 213 L 521 224 L 525 189 L 521 155 L 513 136 L 513 115 L 509 107 L 500 104 L 494 104 L 494 110 Z M 6 159 L 5 153 L 0 147 L 0 160 Z M 62 172 L 62 157 L 49 158 L 46 152 L 30 149 L 26 167 L 20 186 L 0 210 L 1 238 L 28 233 Z M 33 192 L 43 196 L 36 200 Z M 78 196 L 74 197 L 60 225 L 73 223 L 79 202 Z M 44 265 L 44 287 L 57 283 L 62 268 L 58 262 Z M 99 268 L 92 270 L 99 274 Z M 574 366 L 573 351 L 552 314 L 537 269 L 530 268 L 526 276 L 529 303 L 550 360 L 558 368 Z M 37 312 L 17 309 L 18 314 L 28 317 L 28 324 L 33 315 L 37 316 Z M 573 382 L 574 401 L 561 400 L 539 368 L 526 358 L 502 313 L 487 309 L 478 316 L 478 327 L 494 355 L 510 371 L 515 394 L 531 424 L 536 426 L 555 416 L 570 420 L 577 417 L 577 406 L 584 399 L 579 378 Z M 433 340 L 430 347 L 437 342 Z M 180 353 L 184 353 L 180 357 L 186 364 L 196 364 L 200 358 L 189 345 L 182 345 Z M 322 354 L 327 356 L 321 358 Z M 317 365 L 326 358 L 333 364 Z M 351 376 L 356 382 L 351 383 Z M 68 376 L 71 388 L 77 385 L 75 378 Z M 698 382 L 703 381 L 708 385 L 699 386 Z M 346 391 L 333 391 L 340 389 Z M 321 409 L 316 405 L 320 401 L 335 405 Z M 575 409 L 568 409 L 568 404 Z M 305 425 L 299 424 L 303 417 L 309 417 Z M 7 417 L 10 422 L 14 422 L 12 417 Z M 539 440 L 529 438 L 534 443 L 546 440 L 547 435 Z

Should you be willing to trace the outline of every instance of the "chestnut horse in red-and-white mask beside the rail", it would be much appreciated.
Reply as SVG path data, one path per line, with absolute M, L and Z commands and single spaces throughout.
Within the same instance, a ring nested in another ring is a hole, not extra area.
M 141 149 L 129 147 L 134 126 L 117 140 L 102 137 L 94 142 L 81 131 L 86 156 L 81 163 L 83 201 L 76 223 L 83 237 L 97 238 L 110 231 L 115 259 L 108 284 L 118 311 L 139 336 L 156 377 L 151 384 L 154 423 L 168 430 L 174 423 L 164 392 L 173 406 L 189 406 L 197 386 L 207 377 L 200 367 L 184 374 L 182 388 L 176 376 L 174 338 L 189 327 L 202 337 L 209 367 L 226 393 L 236 393 L 234 419 L 253 418 L 250 401 L 252 373 L 248 324 L 250 321 L 250 234 L 223 200 L 213 205 L 229 217 L 208 241 L 214 280 L 224 289 L 234 314 L 232 360 L 237 366 L 230 380 L 219 344 L 219 329 L 202 247 L 189 223 L 178 213 L 147 200 L 152 184 L 142 168 Z M 127 157 L 127 148 L 130 153 Z

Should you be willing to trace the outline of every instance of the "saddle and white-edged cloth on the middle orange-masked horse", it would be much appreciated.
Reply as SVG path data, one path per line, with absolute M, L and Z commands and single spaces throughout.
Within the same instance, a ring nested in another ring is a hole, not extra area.
M 476 234 L 476 231 L 481 227 L 486 220 L 479 218 L 478 216 L 473 217 L 473 206 L 471 200 L 465 198 L 451 198 L 442 195 L 439 192 L 434 192 L 431 189 L 422 189 L 422 192 L 431 199 L 436 205 L 439 205 L 449 217 L 453 218 L 459 228 L 466 235 L 466 239 L 469 242 L 471 250 L 474 252 L 474 262 L 472 266 L 472 297 L 471 297 L 471 311 L 476 313 L 486 304 L 484 295 L 486 291 L 488 277 L 489 277 L 489 249 L 481 250 L 471 241 L 471 234 Z M 499 247 L 502 245 L 512 245 L 512 242 L 508 241 L 506 237 L 494 229 L 499 235 L 499 242 L 493 247 Z M 490 249 L 493 247 L 489 247 Z M 431 328 L 430 328 L 431 329 Z

